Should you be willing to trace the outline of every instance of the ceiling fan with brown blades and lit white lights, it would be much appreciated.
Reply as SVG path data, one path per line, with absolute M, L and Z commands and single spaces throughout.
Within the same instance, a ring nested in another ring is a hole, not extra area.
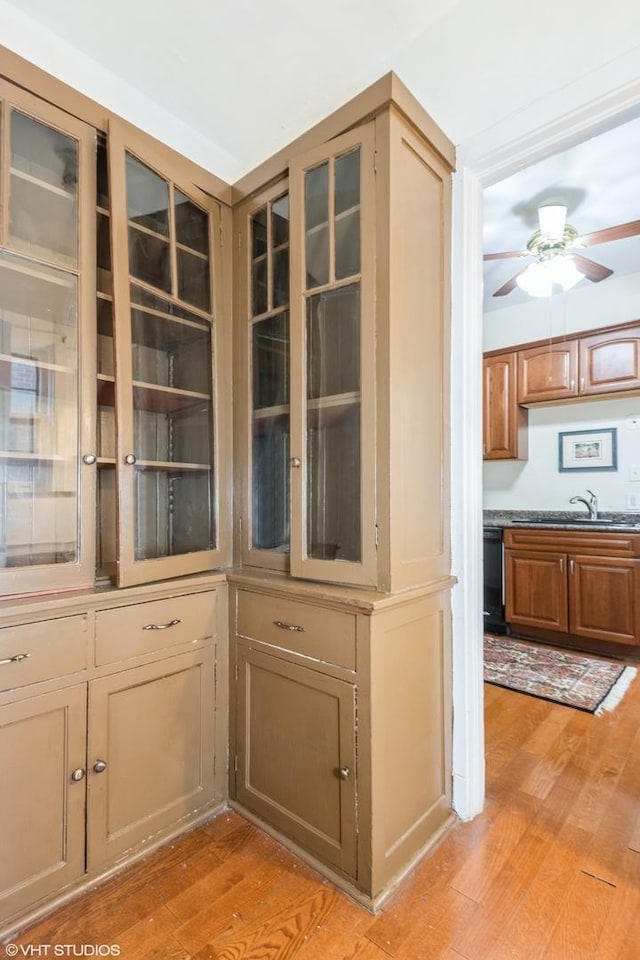
M 516 286 L 532 296 L 550 296 L 556 284 L 569 290 L 583 277 L 592 283 L 606 280 L 613 273 L 609 267 L 583 257 L 578 251 L 612 240 L 640 235 L 640 220 L 620 223 L 615 227 L 595 230 L 583 236 L 567 223 L 567 208 L 561 203 L 545 204 L 538 208 L 539 229 L 531 236 L 525 250 L 506 253 L 486 253 L 485 260 L 506 260 L 515 257 L 535 257 L 493 294 L 504 297 Z

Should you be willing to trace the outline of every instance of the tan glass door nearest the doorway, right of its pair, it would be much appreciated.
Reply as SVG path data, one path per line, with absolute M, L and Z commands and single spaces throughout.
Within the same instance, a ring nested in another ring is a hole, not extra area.
M 374 584 L 372 131 L 331 146 L 292 168 L 291 570 Z

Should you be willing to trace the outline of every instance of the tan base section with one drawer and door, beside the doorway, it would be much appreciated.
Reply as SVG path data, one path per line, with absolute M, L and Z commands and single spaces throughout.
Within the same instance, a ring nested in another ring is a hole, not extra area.
M 232 801 L 375 907 L 453 820 L 450 579 L 230 579 Z

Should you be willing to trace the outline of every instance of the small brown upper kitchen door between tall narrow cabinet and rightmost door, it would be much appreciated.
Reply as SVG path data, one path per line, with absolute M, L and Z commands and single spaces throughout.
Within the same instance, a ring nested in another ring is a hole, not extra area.
M 518 403 L 563 400 L 577 395 L 577 340 L 518 351 Z

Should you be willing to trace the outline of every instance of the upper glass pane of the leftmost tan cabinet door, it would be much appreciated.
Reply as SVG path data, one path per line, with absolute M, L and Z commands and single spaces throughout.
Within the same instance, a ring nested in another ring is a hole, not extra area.
M 11 113 L 9 242 L 22 253 L 67 266 L 78 262 L 78 145 Z

